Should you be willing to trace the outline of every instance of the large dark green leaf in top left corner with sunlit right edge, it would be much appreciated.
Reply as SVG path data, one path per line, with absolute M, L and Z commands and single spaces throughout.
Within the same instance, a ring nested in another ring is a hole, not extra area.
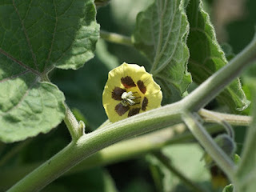
M 77 69 L 94 56 L 98 24 L 90 0 L 2 2 L 0 21 L 2 54 L 26 69 Z

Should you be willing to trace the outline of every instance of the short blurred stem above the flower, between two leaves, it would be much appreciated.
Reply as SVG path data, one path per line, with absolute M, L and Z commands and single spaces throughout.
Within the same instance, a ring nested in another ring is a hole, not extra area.
M 131 41 L 131 38 L 126 37 L 122 34 L 115 34 L 115 33 L 106 32 L 105 30 L 101 30 L 100 35 L 101 35 L 101 38 L 105 39 L 108 42 L 114 42 L 114 43 L 118 43 L 126 46 L 133 46 L 133 42 Z

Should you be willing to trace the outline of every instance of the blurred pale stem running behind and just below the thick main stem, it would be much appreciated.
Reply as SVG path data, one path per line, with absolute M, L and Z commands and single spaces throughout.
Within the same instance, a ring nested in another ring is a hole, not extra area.
M 207 131 L 210 134 L 218 133 L 221 130 L 223 130 L 221 126 L 207 127 Z M 88 170 L 94 166 L 106 166 L 114 162 L 138 158 L 146 153 L 159 150 L 163 146 L 193 141 L 193 134 L 191 134 L 190 131 L 186 131 L 184 123 L 179 123 L 175 126 L 170 126 L 162 130 L 154 131 L 150 134 L 130 138 L 126 141 L 108 146 L 91 155 L 89 158 L 84 159 L 66 174 L 73 174 L 82 170 Z M 10 167 L 10 169 L 2 170 L 0 172 L 0 181 L 2 181 L 1 187 L 10 187 L 14 182 L 18 182 L 19 179 L 24 177 L 26 174 L 29 174 L 30 171 L 34 170 L 36 167 L 40 166 L 40 164 L 42 164 L 42 162 L 19 165 Z

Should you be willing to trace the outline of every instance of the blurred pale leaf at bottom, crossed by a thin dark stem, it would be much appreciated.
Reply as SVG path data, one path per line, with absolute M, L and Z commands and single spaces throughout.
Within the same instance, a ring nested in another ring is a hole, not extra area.
M 170 158 L 173 166 L 186 178 L 201 186 L 203 190 L 215 191 L 211 188 L 209 182 L 210 174 L 206 169 L 205 162 L 201 160 L 203 151 L 198 144 L 166 146 L 163 148 L 162 153 Z M 150 162 L 151 173 L 153 170 L 154 181 L 157 181 L 158 191 L 191 191 L 157 158 L 150 155 L 147 160 Z

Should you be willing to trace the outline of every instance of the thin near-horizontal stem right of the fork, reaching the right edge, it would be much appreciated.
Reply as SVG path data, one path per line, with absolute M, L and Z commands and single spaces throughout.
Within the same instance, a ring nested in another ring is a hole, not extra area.
M 238 114 L 223 114 L 210 110 L 199 110 L 198 114 L 203 118 L 206 122 L 217 122 L 218 119 L 221 119 L 225 122 L 230 123 L 233 126 L 249 126 L 252 122 L 252 118 L 246 115 L 238 115 Z M 216 117 L 218 119 L 216 119 Z

